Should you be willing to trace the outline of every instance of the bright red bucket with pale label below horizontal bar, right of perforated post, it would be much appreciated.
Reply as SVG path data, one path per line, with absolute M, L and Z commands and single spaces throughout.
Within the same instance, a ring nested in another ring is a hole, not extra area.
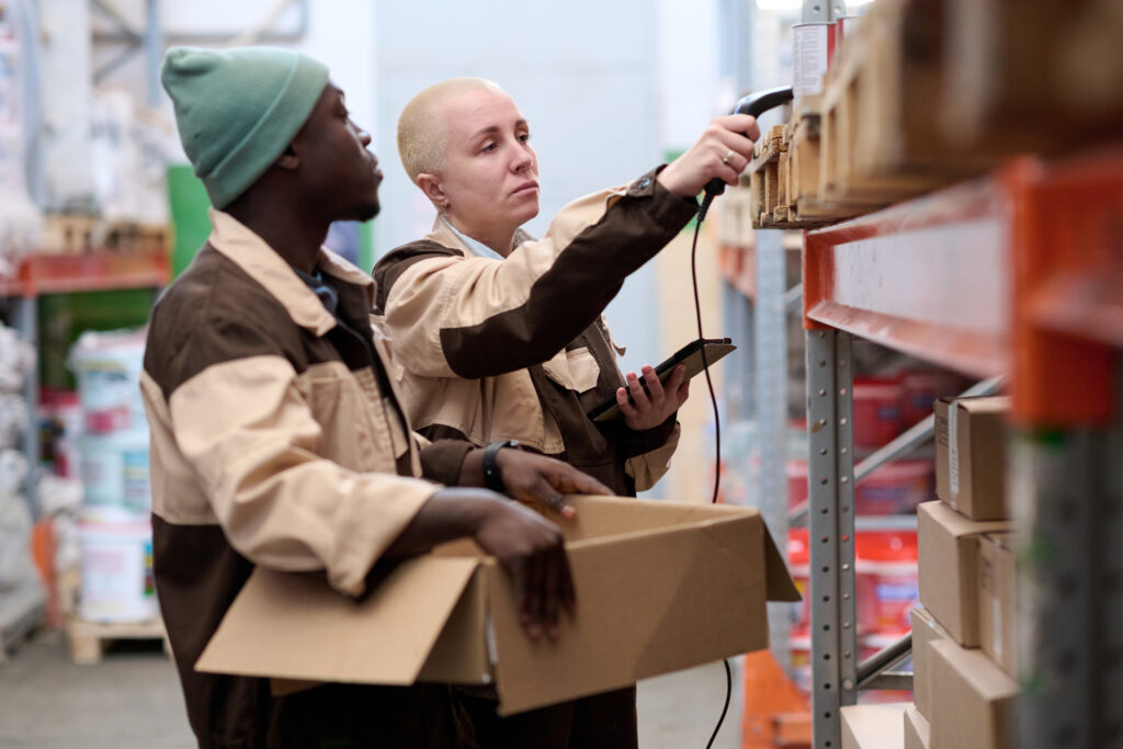
M 859 531 L 855 547 L 858 631 L 904 634 L 919 603 L 916 531 Z

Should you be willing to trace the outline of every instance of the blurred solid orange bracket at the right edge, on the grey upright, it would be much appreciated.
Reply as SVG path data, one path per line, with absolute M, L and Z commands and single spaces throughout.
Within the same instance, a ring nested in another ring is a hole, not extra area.
M 1106 427 L 1123 340 L 1123 148 L 1003 172 L 1011 198 L 1014 419 Z

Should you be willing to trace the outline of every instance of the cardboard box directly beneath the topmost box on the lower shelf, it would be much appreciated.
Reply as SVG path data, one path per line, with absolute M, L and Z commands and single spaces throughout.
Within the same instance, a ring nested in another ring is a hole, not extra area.
M 979 645 L 978 537 L 1008 530 L 1008 521 L 970 520 L 943 502 L 916 508 L 920 602 L 968 648 Z

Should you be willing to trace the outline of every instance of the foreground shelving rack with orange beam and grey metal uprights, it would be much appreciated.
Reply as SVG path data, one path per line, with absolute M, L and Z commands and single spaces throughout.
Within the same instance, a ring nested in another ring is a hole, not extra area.
M 900 688 L 859 664 L 855 618 L 852 337 L 962 373 L 1005 377 L 1016 437 L 1017 746 L 1123 743 L 1123 150 L 1024 157 L 977 182 L 804 238 L 813 725 L 841 746 L 859 689 Z M 923 423 L 893 448 L 919 439 Z

